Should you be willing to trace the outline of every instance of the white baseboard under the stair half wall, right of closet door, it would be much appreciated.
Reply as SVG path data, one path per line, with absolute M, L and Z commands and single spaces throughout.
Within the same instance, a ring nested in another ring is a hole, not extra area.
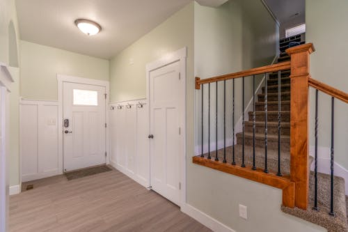
M 218 220 L 210 217 L 209 215 L 205 214 L 204 212 L 198 210 L 197 208 L 194 208 L 190 204 L 186 203 L 183 204 L 181 207 L 181 211 L 185 214 L 189 215 L 193 219 L 196 219 L 201 224 L 207 226 L 207 228 L 211 229 L 212 231 L 219 231 L 219 232 L 236 232 L 230 227 L 226 226 L 225 224 L 222 224 Z

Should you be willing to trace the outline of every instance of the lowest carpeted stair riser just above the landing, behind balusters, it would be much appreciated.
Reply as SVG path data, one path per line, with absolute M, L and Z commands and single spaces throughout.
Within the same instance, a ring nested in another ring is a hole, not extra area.
M 242 145 L 242 133 L 237 134 L 237 144 Z M 245 137 L 244 138 L 244 146 L 253 146 L 253 138 Z M 264 148 L 264 139 L 256 138 L 255 139 L 255 147 Z M 276 150 L 278 149 L 278 141 L 267 141 L 267 148 Z M 289 151 L 290 150 L 290 141 L 289 139 L 280 139 L 280 150 Z

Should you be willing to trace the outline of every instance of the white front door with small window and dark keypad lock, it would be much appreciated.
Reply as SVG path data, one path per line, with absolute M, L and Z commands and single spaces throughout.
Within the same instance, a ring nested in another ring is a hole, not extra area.
M 63 82 L 64 171 L 105 164 L 105 87 Z

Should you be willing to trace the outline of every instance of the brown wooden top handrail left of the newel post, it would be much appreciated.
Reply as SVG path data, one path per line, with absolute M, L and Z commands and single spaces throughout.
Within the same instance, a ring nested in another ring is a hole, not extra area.
M 276 63 L 273 65 L 267 65 L 259 68 L 252 68 L 249 70 L 245 70 L 242 72 L 234 72 L 230 73 L 227 75 L 221 75 L 217 77 L 211 77 L 207 79 L 200 79 L 196 77 L 196 89 L 200 89 L 201 84 L 207 84 L 207 83 L 212 83 L 212 82 L 220 82 L 228 79 L 234 79 L 234 78 L 239 78 L 239 77 L 248 77 L 252 75 L 258 75 L 266 72 L 275 72 L 279 70 L 287 70 L 291 68 L 291 63 L 290 61 L 282 62 L 282 63 Z

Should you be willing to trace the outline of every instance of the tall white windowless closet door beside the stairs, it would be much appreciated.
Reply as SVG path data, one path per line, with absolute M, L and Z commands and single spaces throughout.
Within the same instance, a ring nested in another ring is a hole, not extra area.
M 150 72 L 151 185 L 180 206 L 180 61 Z

